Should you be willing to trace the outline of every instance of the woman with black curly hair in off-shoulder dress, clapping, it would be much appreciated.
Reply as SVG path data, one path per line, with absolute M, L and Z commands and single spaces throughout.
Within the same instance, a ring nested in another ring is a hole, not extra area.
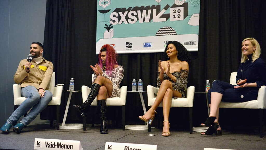
M 157 87 L 159 91 L 156 100 L 151 108 L 139 119 L 149 121 L 152 123 L 155 110 L 163 101 L 163 115 L 164 127 L 162 136 L 170 136 L 169 112 L 171 108 L 171 99 L 178 97 L 185 97 L 185 91 L 189 74 L 188 61 L 190 60 L 190 53 L 186 48 L 177 41 L 168 41 L 165 47 L 165 53 L 168 61 L 159 61 Z

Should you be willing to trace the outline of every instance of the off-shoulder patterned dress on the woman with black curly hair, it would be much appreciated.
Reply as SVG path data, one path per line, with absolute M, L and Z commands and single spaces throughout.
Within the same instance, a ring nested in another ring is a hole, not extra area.
M 182 94 L 182 97 L 185 97 L 185 89 L 186 89 L 186 84 L 188 83 L 189 71 L 187 69 L 185 69 L 185 70 L 181 70 L 181 71 L 175 71 L 171 74 L 173 74 L 173 76 L 176 77 L 176 82 L 171 80 L 171 78 L 169 78 L 165 72 L 164 72 L 163 80 L 171 81 L 173 89 L 180 92 Z M 160 76 L 160 72 L 158 72 L 158 77 L 157 77 L 157 87 L 158 88 L 161 87 L 161 81 L 160 81 L 159 76 Z M 176 99 L 176 98 L 178 98 L 178 97 L 174 97 L 174 99 Z

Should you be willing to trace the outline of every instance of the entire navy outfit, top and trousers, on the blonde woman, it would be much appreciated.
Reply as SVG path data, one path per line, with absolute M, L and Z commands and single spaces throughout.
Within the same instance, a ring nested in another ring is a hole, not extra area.
M 225 102 L 245 102 L 251 100 L 257 100 L 258 91 L 260 86 L 266 85 L 266 64 L 261 59 L 258 58 L 252 62 L 252 55 L 249 55 L 249 60 L 240 63 L 236 82 L 241 79 L 247 79 L 246 83 L 257 83 L 257 87 L 245 87 L 237 88 L 237 84 L 232 85 L 224 81 L 214 81 L 213 88 L 208 91 L 208 101 L 211 101 L 211 92 L 218 92 L 223 94 L 222 101 Z

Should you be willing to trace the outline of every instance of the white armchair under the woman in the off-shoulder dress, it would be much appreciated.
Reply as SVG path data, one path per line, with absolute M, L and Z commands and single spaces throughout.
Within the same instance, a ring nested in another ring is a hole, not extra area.
M 148 94 L 148 106 L 152 106 L 155 99 L 156 94 L 159 88 L 156 88 L 152 85 L 147 86 L 147 94 Z M 188 107 L 189 108 L 189 133 L 192 134 L 192 108 L 193 108 L 193 100 L 194 100 L 194 93 L 195 93 L 195 86 L 189 86 L 186 90 L 186 98 L 172 98 L 171 107 Z M 159 107 L 163 107 L 163 103 L 159 105 Z M 158 128 L 160 119 L 158 118 Z M 151 126 L 148 127 L 148 132 L 151 132 Z

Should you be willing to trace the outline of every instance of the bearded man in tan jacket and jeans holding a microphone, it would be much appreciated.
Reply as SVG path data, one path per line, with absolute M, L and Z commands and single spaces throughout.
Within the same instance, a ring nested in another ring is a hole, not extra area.
M 20 61 L 18 69 L 14 75 L 16 84 L 21 83 L 21 96 L 26 97 L 19 107 L 7 119 L 7 122 L 1 127 L 1 131 L 9 133 L 12 125 L 16 124 L 21 116 L 30 112 L 20 120 L 20 123 L 14 125 L 13 131 L 20 133 L 23 127 L 30 124 L 36 116 L 46 108 L 52 100 L 52 93 L 48 90 L 49 81 L 53 73 L 53 64 L 42 57 L 43 45 L 39 42 L 32 42 L 30 54 L 33 59 Z

